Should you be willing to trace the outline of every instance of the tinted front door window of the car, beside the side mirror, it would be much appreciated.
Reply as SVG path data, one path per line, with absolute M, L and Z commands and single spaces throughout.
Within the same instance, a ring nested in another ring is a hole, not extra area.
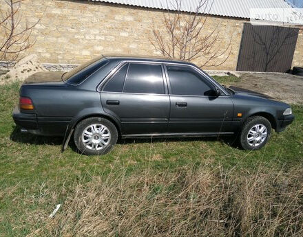
M 211 95 L 211 83 L 190 67 L 169 66 L 167 73 L 174 95 Z

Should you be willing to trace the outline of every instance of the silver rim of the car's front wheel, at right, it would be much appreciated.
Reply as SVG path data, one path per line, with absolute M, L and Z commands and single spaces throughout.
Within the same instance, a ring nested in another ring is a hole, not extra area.
M 260 146 L 267 139 L 267 127 L 263 124 L 256 124 L 247 133 L 247 143 L 250 146 Z

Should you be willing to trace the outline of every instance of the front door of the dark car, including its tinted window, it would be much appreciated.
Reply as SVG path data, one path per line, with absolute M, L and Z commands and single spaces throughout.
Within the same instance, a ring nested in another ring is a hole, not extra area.
M 169 133 L 232 133 L 233 102 L 194 67 L 166 65 L 171 103 Z

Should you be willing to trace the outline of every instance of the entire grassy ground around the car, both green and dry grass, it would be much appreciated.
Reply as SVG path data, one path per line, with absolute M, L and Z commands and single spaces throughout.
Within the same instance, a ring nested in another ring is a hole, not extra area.
M 20 133 L 18 90 L 0 86 L 1 237 L 303 236 L 302 105 L 262 150 L 153 139 L 87 157 Z

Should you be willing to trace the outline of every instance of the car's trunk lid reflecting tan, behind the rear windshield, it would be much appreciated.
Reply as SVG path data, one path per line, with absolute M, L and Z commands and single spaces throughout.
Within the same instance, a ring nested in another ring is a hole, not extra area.
M 64 71 L 40 71 L 26 78 L 23 84 L 48 84 L 61 85 L 64 82 L 61 80 Z

